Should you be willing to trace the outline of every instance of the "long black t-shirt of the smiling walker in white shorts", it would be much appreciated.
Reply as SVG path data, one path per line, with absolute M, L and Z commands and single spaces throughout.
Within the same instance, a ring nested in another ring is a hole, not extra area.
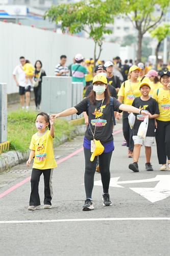
M 159 114 L 158 103 L 155 99 L 150 98 L 149 100 L 141 100 L 140 97 L 134 99 L 132 106 L 135 106 L 138 109 L 147 110 L 151 113 L 151 115 Z M 139 125 L 144 120 L 144 116 L 139 114 L 134 114 L 136 116 L 135 123 L 133 126 L 133 135 L 137 135 Z M 155 119 L 149 119 L 148 123 L 148 131 L 147 137 L 154 137 L 155 136 Z

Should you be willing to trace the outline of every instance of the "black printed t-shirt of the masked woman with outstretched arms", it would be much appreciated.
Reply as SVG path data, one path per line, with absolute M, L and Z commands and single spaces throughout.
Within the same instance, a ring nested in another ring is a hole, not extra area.
M 106 100 L 104 100 L 102 105 L 102 100 L 96 100 L 96 104 L 90 104 L 88 108 L 87 106 L 88 100 L 89 98 L 85 98 L 75 106 L 75 108 L 78 111 L 77 115 L 80 115 L 83 112 L 87 112 L 87 115 L 89 118 L 90 126 L 88 125 L 87 127 L 87 130 L 85 132 L 85 137 L 88 140 L 93 139 L 91 130 L 94 133 L 95 124 L 96 124 L 94 139 L 100 140 L 101 143 L 107 143 L 113 140 L 113 136 L 112 136 L 113 119 L 112 119 L 112 111 L 110 109 L 111 108 L 110 103 L 106 105 Z M 120 103 L 116 98 L 113 98 L 114 111 L 121 113 L 122 111 L 119 110 L 119 106 L 121 104 L 122 103 Z M 91 127 L 91 130 L 90 130 L 90 127 Z

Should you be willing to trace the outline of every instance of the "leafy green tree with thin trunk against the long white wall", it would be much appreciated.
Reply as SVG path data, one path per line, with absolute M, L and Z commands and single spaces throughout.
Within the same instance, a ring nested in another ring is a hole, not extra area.
M 120 12 L 121 4 L 124 5 L 124 0 L 85 0 L 75 4 L 61 4 L 52 6 L 45 13 L 45 18 L 61 23 L 63 33 L 85 31 L 93 38 L 95 63 L 101 55 L 105 34 L 112 33 L 106 25 L 114 22 L 114 15 Z

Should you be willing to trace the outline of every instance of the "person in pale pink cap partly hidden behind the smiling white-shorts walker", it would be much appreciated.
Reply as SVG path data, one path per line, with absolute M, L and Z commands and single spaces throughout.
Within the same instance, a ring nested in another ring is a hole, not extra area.
M 148 77 L 150 82 L 150 88 L 151 88 L 151 91 L 150 91 L 150 97 L 153 96 L 153 92 L 155 89 L 159 89 L 162 86 L 162 84 L 160 83 L 159 81 L 159 78 L 158 78 L 158 72 L 156 72 L 154 69 L 151 69 L 146 75 L 145 77 Z

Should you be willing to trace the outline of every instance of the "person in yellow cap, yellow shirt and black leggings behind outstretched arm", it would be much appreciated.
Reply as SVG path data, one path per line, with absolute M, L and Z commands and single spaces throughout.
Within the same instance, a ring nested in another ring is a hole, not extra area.
M 140 81 L 138 80 L 140 68 L 133 65 L 129 69 L 129 77 L 130 79 L 124 81 L 120 90 L 118 91 L 118 101 L 124 104 L 132 105 L 133 100 L 136 97 L 140 97 L 141 92 L 140 88 Z M 129 126 L 128 120 L 129 114 L 127 112 L 123 112 L 123 133 L 124 137 L 127 141 L 128 146 L 128 157 L 133 157 L 133 148 L 134 142 L 132 139 L 133 132 Z

